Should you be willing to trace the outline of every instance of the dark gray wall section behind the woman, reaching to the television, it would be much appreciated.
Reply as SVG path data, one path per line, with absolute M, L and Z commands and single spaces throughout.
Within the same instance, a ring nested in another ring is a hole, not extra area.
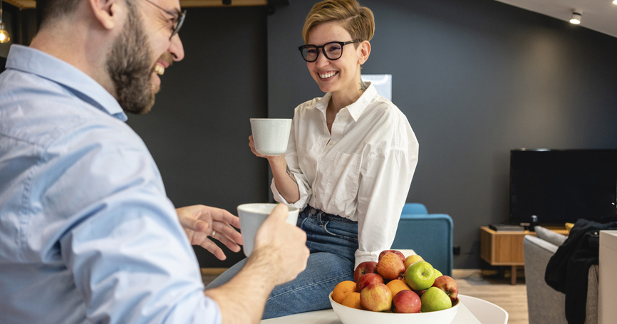
M 297 46 L 314 1 L 268 18 L 268 110 L 323 93 Z M 393 75 L 420 157 L 408 202 L 450 214 L 455 268 L 479 259 L 479 226 L 508 221 L 509 150 L 617 148 L 617 38 L 488 0 L 363 0 L 375 14 L 363 73 Z

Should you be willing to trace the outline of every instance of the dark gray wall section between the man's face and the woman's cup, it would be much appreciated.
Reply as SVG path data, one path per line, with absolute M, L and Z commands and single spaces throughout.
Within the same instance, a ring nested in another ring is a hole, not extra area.
M 266 117 L 266 9 L 189 9 L 180 31 L 185 59 L 162 75 L 152 111 L 130 115 L 176 207 L 206 204 L 237 214 L 267 202 L 268 166 L 249 149 L 249 118 Z M 229 267 L 195 248 L 203 267 Z

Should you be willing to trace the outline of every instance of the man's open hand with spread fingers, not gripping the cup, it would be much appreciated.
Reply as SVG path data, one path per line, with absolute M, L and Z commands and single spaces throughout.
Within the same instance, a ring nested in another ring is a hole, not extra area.
M 225 244 L 234 252 L 240 251 L 242 235 L 236 231 L 240 220 L 224 209 L 194 205 L 176 209 L 180 224 L 192 245 L 199 245 L 214 254 L 219 260 L 227 258 L 223 250 L 209 239 L 209 236 Z

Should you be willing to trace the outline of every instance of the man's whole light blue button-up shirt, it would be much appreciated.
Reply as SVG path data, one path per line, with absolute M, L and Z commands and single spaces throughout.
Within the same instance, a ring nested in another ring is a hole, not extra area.
M 70 64 L 0 74 L 0 323 L 220 323 L 145 144 Z

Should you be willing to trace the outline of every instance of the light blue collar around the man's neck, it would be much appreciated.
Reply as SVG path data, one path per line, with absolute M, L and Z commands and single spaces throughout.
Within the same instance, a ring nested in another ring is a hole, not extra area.
M 28 46 L 14 44 L 6 58 L 6 68 L 33 73 L 63 85 L 86 103 L 122 121 L 128 117 L 118 100 L 89 75 L 65 61 Z

